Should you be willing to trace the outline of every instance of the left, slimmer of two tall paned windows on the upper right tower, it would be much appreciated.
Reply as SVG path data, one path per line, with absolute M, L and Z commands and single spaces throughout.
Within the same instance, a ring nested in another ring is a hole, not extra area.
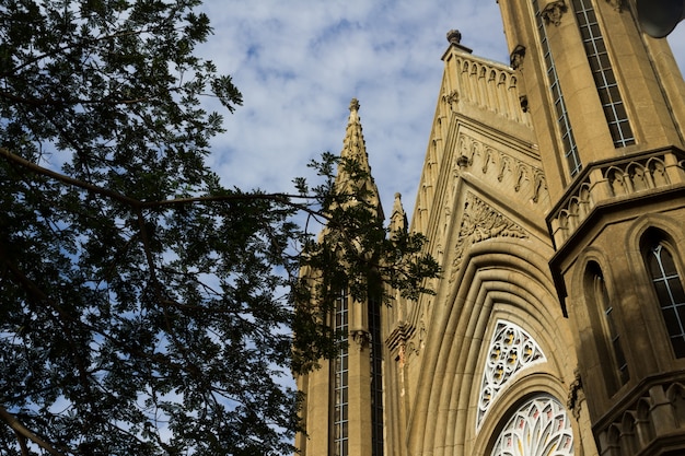
M 547 72 L 549 91 L 552 92 L 554 112 L 557 118 L 557 125 L 559 126 L 559 133 L 561 135 L 561 143 L 564 144 L 564 155 L 566 156 L 569 173 L 572 177 L 580 173 L 582 164 L 580 163 L 578 147 L 576 144 L 576 139 L 573 138 L 573 131 L 571 130 L 568 112 L 566 110 L 564 94 L 561 93 L 561 87 L 559 86 L 559 77 L 557 75 L 557 68 L 554 63 L 552 49 L 549 48 L 547 31 L 545 30 L 545 21 L 543 20 L 539 11 L 538 0 L 533 0 L 533 9 L 535 11 L 535 23 L 539 34 L 541 48 L 545 60 L 545 71 Z

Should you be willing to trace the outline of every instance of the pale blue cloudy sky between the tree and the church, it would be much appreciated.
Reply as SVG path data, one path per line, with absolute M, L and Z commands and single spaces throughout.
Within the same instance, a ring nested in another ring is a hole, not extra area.
M 442 77 L 445 34 L 508 61 L 495 0 L 206 0 L 200 49 L 242 91 L 212 166 L 225 185 L 290 191 L 323 151 L 339 153 L 348 106 L 360 116 L 386 213 L 414 208 Z M 685 23 L 669 38 L 685 68 Z

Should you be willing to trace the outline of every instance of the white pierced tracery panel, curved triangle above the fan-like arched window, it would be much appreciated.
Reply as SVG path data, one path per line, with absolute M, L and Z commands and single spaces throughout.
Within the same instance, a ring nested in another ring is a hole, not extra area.
M 504 384 L 516 373 L 543 361 L 546 361 L 545 354 L 526 331 L 513 323 L 497 321 L 480 383 L 476 428 L 480 426 L 483 417 Z

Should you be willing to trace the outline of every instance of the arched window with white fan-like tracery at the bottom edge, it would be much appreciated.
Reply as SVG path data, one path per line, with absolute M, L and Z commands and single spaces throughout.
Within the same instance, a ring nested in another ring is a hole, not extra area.
M 571 420 L 553 397 L 537 396 L 509 419 L 491 456 L 572 456 Z

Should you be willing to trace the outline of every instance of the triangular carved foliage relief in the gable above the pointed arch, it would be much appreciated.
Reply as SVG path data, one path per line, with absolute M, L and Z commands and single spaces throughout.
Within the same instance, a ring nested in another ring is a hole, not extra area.
M 462 226 L 455 247 L 455 257 L 452 261 L 450 283 L 456 280 L 456 273 L 461 268 L 467 247 L 494 237 L 529 237 L 523 227 L 471 192 L 466 194 L 463 213 Z

